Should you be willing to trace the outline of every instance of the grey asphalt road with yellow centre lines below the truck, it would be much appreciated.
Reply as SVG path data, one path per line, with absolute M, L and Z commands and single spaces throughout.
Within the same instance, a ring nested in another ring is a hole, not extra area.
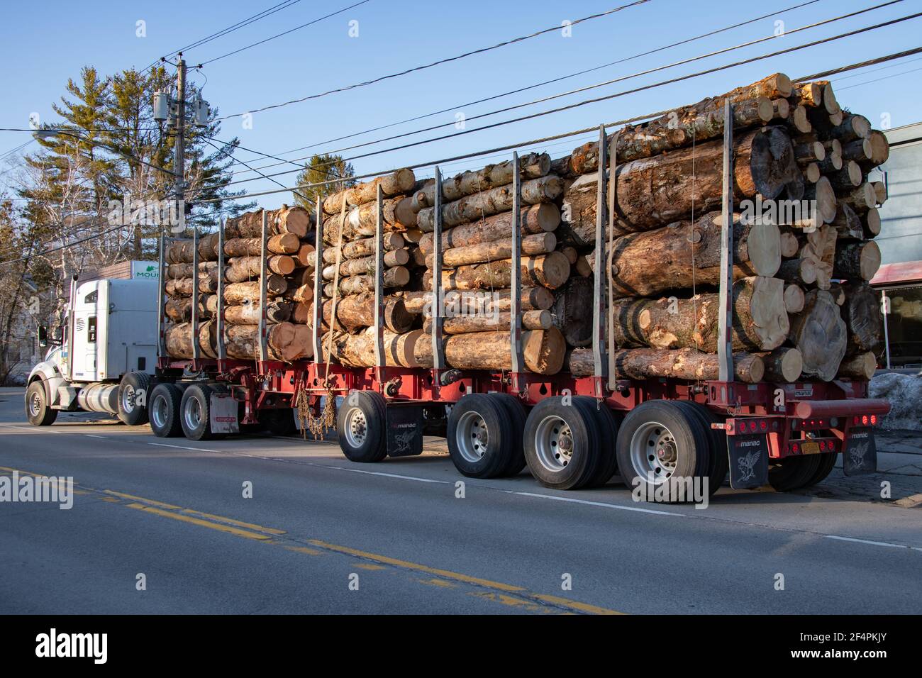
M 701 510 L 527 471 L 467 479 L 462 498 L 443 454 L 361 465 L 336 444 L 161 439 L 82 414 L 33 428 L 21 389 L 0 389 L 0 467 L 76 483 L 70 510 L 0 502 L 0 613 L 922 608 L 922 514 L 879 502 L 724 487 Z

